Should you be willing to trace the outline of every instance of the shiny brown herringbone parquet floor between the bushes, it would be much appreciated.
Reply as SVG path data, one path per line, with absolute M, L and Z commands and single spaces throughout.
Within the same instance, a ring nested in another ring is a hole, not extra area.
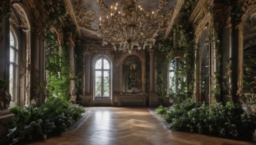
M 94 107 L 76 130 L 29 144 L 253 144 L 207 135 L 165 130 L 145 107 Z M 27 143 L 26 143 L 27 144 Z

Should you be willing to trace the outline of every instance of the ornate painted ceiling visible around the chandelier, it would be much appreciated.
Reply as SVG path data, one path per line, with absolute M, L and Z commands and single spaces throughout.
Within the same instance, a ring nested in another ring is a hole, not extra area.
M 138 3 L 142 6 L 144 10 L 150 9 L 156 11 L 160 1 L 163 0 L 138 0 Z M 166 20 L 161 31 L 159 31 L 159 38 L 163 38 L 167 32 L 168 25 L 172 19 L 172 13 L 175 9 L 175 4 L 177 0 L 165 0 L 168 3 L 163 7 L 163 10 L 160 13 L 166 15 Z M 74 18 L 76 27 L 79 27 L 79 36 L 82 39 L 87 39 L 91 41 L 100 42 L 100 38 L 97 29 L 99 29 L 99 18 L 100 16 L 106 15 L 106 11 L 100 8 L 99 0 L 68 0 L 69 10 Z M 118 3 L 117 10 L 120 10 L 124 0 L 105 0 L 104 4 L 111 7 L 114 4 Z

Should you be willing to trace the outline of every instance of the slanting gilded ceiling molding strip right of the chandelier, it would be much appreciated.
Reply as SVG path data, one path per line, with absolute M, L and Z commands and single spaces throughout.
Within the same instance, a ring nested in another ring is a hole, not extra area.
M 173 9 L 174 9 L 174 11 L 173 11 L 173 13 L 172 13 L 172 16 L 173 16 L 173 17 L 171 18 L 171 20 L 170 20 L 170 22 L 169 22 L 170 24 L 169 24 L 169 26 L 168 26 L 168 28 L 167 28 L 167 30 L 166 30 L 164 39 L 168 38 L 168 36 L 169 36 L 169 34 L 170 34 L 170 31 L 171 31 L 173 25 L 175 24 L 175 22 L 176 22 L 176 20 L 177 20 L 177 17 L 178 17 L 178 15 L 179 15 L 179 11 L 180 11 L 180 9 L 182 8 L 183 4 L 184 4 L 184 0 L 178 0 L 178 1 L 177 1 L 177 4 L 176 4 L 175 7 L 173 8 Z

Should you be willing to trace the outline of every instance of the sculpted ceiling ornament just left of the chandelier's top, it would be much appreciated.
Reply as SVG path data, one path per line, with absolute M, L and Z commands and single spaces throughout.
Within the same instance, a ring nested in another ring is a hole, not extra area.
M 95 11 L 89 12 L 84 6 L 82 0 L 76 0 L 73 6 L 77 22 L 80 27 L 90 27 L 95 20 Z

